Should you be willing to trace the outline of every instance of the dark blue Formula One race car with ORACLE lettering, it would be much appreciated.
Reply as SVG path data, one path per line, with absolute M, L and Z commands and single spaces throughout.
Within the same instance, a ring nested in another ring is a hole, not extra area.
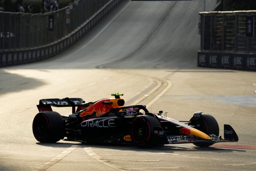
M 177 121 L 162 116 L 162 110 L 149 113 L 145 105 L 124 106 L 121 95 L 89 103 L 81 98 L 42 99 L 37 105 L 33 134 L 39 142 L 52 143 L 66 137 L 66 141 L 134 143 L 140 147 L 181 143 L 207 147 L 238 141 L 230 125 L 224 125 L 224 139 L 219 136 L 219 125 L 211 115 L 197 112 L 189 121 Z M 72 107 L 72 114 L 62 116 L 51 106 Z

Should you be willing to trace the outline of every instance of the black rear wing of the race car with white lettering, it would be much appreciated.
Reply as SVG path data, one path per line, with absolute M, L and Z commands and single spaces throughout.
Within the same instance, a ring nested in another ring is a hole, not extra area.
M 41 99 L 37 105 L 39 112 L 53 111 L 52 107 L 72 107 L 72 113 L 75 113 L 75 107 L 84 106 L 87 103 L 81 98 L 69 98 L 64 99 Z

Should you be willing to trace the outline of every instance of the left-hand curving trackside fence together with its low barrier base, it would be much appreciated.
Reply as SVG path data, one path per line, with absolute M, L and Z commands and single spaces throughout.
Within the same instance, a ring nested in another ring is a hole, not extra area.
M 2 34 L 1 44 L 4 41 L 3 38 L 9 39 L 11 43 L 8 41 L 8 49 L 0 49 L 0 67 L 40 61 L 66 50 L 88 33 L 94 25 L 121 1 L 97 0 L 96 4 L 91 4 L 91 0 L 80 0 L 77 5 L 75 3 L 72 5 L 73 9 L 69 15 L 70 24 L 66 23 L 68 19 L 66 9 L 68 7 L 44 15 L 12 14 L 6 12 L 3 14 L 0 12 L 1 17 L 5 18 L 8 16 L 7 18 L 11 18 L 11 21 L 8 23 L 8 29 L 11 30 L 11 34 L 5 33 L 4 36 Z M 50 32 L 48 16 L 52 14 L 54 15 L 54 31 Z M 18 25 L 17 23 L 21 24 Z M 19 26 L 22 29 L 17 29 Z M 3 26 L 0 27 L 3 28 Z M 14 40 L 10 40 L 11 38 Z M 10 49 L 10 47 L 13 48 Z

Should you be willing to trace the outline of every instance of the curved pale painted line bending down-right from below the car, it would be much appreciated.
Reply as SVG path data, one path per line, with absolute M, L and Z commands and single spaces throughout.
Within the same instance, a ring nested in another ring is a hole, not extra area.
M 123 167 L 121 167 L 121 166 L 118 166 L 118 165 L 116 165 L 116 164 L 110 162 L 109 160 L 102 158 L 101 156 L 98 156 L 98 155 L 91 149 L 91 147 L 86 147 L 86 148 L 83 148 L 83 149 L 85 150 L 85 152 L 86 152 L 89 156 L 93 157 L 94 159 L 98 160 L 99 162 L 101 162 L 101 163 L 103 163 L 103 164 L 105 164 L 105 165 L 107 165 L 107 166 L 109 166 L 109 167 L 112 167 L 112 168 L 114 168 L 114 169 L 121 170 L 121 171 L 127 171 L 127 170 L 129 170 L 129 169 L 123 168 Z

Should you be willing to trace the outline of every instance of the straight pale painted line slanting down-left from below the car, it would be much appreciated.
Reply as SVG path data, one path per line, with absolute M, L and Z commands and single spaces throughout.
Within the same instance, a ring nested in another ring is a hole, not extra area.
M 48 162 L 34 169 L 35 171 L 43 171 L 58 163 L 61 159 L 63 159 L 66 155 L 74 151 L 77 147 L 69 147 L 67 150 L 62 151 L 62 153 L 58 154 L 56 157 L 52 158 Z

